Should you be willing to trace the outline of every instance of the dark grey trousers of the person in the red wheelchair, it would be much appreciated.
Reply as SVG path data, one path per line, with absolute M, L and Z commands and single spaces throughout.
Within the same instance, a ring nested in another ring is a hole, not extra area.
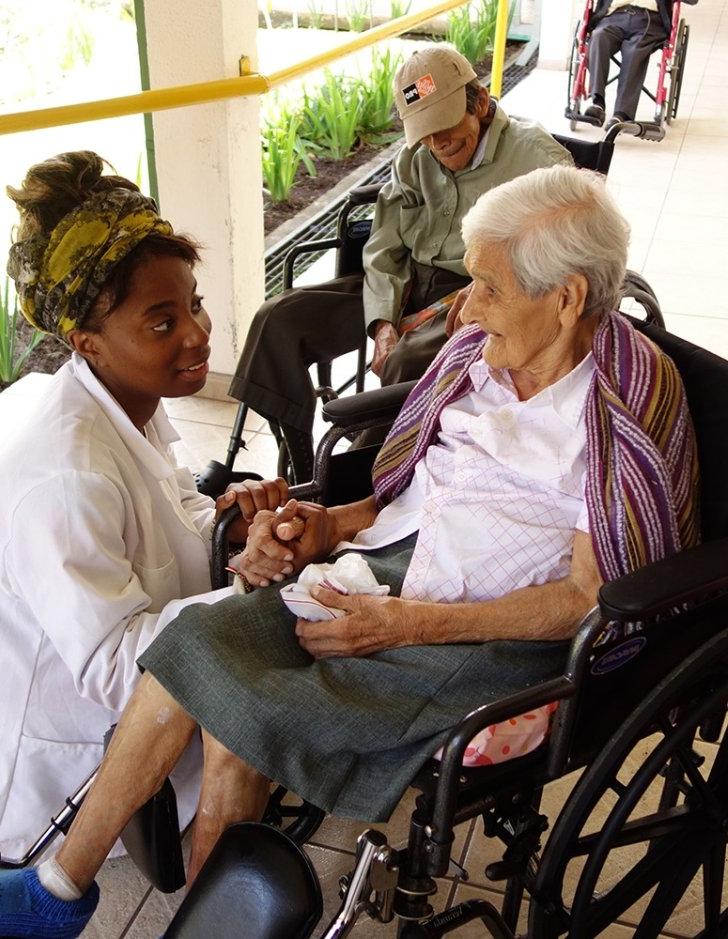
M 610 58 L 621 51 L 614 111 L 634 118 L 650 56 L 664 41 L 665 29 L 658 13 L 629 7 L 606 16 L 589 39 L 590 93 L 604 97 Z

